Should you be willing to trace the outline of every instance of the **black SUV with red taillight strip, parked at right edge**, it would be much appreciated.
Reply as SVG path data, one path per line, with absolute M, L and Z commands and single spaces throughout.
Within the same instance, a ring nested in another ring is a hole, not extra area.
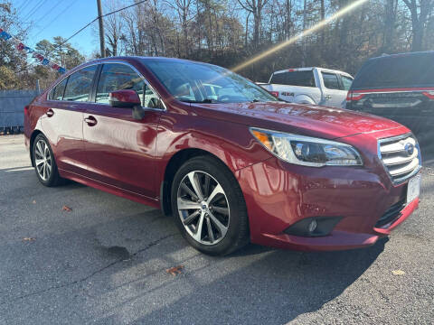
M 434 51 L 367 60 L 355 76 L 346 108 L 406 125 L 423 144 L 434 132 Z

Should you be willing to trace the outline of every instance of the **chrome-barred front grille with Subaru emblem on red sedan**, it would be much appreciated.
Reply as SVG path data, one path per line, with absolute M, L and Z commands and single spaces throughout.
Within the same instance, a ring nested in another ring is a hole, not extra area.
M 405 181 L 420 170 L 420 148 L 413 135 L 380 140 L 378 155 L 393 183 Z

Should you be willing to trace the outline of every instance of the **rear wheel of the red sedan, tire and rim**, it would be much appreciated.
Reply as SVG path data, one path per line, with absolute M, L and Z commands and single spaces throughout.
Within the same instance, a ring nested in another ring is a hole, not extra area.
M 36 175 L 43 185 L 51 187 L 61 184 L 63 179 L 57 170 L 52 147 L 42 134 L 33 141 L 33 162 Z

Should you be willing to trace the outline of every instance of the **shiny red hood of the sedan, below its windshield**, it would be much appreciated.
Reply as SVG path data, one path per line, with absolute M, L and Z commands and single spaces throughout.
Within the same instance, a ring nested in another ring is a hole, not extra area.
M 329 139 L 402 127 L 380 116 L 293 103 L 192 104 L 198 115 Z

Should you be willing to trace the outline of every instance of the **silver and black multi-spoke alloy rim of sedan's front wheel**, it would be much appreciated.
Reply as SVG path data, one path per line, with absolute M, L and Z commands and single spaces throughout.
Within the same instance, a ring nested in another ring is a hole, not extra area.
M 185 230 L 203 245 L 215 245 L 226 235 L 230 210 L 222 186 L 210 174 L 194 171 L 179 184 L 178 214 Z

